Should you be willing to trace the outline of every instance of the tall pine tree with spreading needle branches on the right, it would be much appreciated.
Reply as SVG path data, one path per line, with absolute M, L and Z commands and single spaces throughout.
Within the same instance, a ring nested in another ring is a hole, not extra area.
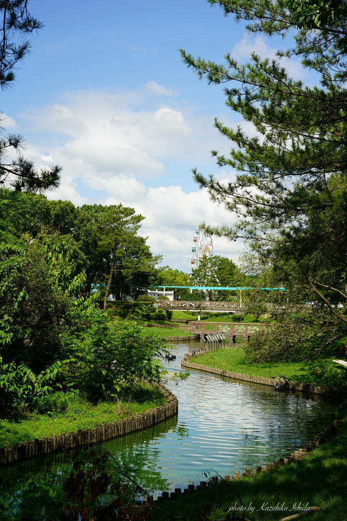
M 209 2 L 219 4 L 226 15 L 248 20 L 252 33 L 285 36 L 295 28 L 294 15 L 279 1 Z M 347 325 L 347 71 L 340 45 L 346 23 L 341 16 L 338 31 L 335 22 L 322 30 L 303 28 L 295 34 L 292 49 L 277 53 L 278 58 L 301 56 L 303 67 L 320 76 L 320 86 L 292 79 L 278 59 L 253 53 L 243 65 L 226 55 L 226 65 L 219 65 L 182 50 L 184 63 L 199 77 L 230 83 L 225 88 L 227 105 L 256 132 L 249 137 L 240 126 L 228 128 L 215 121 L 234 147 L 230 157 L 217 151 L 212 155 L 218 165 L 235 168 L 236 179 L 224 184 L 196 169 L 194 176 L 237 220 L 209 231 L 249 241 L 264 264 L 271 263 L 278 284 L 285 281 L 301 302 L 321 303 L 320 326 L 315 328 L 321 345 L 322 328 L 331 342 L 345 334 Z

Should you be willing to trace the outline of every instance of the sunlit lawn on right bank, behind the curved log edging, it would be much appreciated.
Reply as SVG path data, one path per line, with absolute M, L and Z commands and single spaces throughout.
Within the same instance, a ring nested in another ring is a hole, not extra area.
M 246 364 L 243 350 L 240 348 L 220 349 L 206 355 L 200 355 L 194 359 L 194 363 L 264 378 L 278 377 L 279 373 L 285 375 L 289 380 L 303 381 L 303 378 L 305 378 L 305 373 L 300 370 L 302 362 Z

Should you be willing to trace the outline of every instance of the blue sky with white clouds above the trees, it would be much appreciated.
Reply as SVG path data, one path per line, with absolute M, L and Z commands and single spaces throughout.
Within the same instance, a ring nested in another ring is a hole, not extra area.
M 1 92 L 3 126 L 26 140 L 37 167 L 63 167 L 49 199 L 123 204 L 146 217 L 162 266 L 190 271 L 197 222 L 232 224 L 234 216 L 209 201 L 191 169 L 222 181 L 235 172 L 215 165 L 211 150 L 232 143 L 213 126 L 242 124 L 225 106 L 223 85 L 208 85 L 182 64 L 178 49 L 217 62 L 231 53 L 247 61 L 256 51 L 273 58 L 281 40 L 246 34 L 205 0 L 32 0 L 44 28 L 31 38 L 30 56 L 15 84 Z M 305 80 L 295 61 L 284 65 Z M 215 254 L 237 260 L 241 242 L 216 239 Z

